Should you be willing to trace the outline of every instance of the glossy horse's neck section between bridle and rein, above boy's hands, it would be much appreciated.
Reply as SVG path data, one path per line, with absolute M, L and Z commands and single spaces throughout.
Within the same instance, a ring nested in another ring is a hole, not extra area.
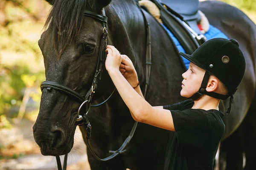
M 134 63 L 143 74 L 140 63 L 145 57 L 146 30 L 143 15 L 134 0 L 115 0 L 106 11 L 113 45 Z

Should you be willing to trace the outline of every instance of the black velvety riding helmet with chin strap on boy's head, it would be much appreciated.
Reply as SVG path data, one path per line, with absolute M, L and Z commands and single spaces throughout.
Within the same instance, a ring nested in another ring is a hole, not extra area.
M 206 70 L 201 87 L 192 96 L 192 99 L 196 100 L 203 94 L 222 100 L 230 97 L 230 107 L 226 111 L 229 114 L 233 103 L 233 95 L 245 72 L 245 59 L 239 48 L 239 43 L 234 39 L 213 38 L 203 43 L 192 55 L 179 53 L 195 65 Z M 217 77 L 227 87 L 227 95 L 206 91 L 210 75 Z

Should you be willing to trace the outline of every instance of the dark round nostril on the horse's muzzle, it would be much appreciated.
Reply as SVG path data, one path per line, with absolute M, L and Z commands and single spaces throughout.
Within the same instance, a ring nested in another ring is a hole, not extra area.
M 64 144 L 66 140 L 64 130 L 60 127 L 52 127 L 50 138 L 51 147 L 61 147 L 61 145 Z

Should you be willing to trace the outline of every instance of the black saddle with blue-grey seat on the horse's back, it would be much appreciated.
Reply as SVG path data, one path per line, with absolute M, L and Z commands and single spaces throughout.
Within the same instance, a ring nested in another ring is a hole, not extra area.
M 163 24 L 175 35 L 187 54 L 192 54 L 206 41 L 198 29 L 198 22 L 201 20 L 199 0 L 151 1 L 160 9 Z

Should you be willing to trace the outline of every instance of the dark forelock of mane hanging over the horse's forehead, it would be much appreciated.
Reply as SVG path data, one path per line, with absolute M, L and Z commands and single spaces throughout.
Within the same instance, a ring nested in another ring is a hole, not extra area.
M 84 17 L 84 10 L 98 11 L 95 0 L 54 0 L 44 29 L 48 27 L 56 55 L 75 40 Z

